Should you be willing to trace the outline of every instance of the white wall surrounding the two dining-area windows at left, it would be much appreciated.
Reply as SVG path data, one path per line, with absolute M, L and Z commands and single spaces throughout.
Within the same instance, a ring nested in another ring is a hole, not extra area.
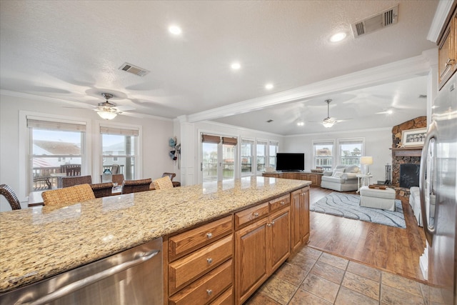
M 27 194 L 20 194 L 19 189 L 24 189 L 26 181 L 24 181 L 24 174 L 19 173 L 19 169 L 24 167 L 21 165 L 23 159 L 19 154 L 24 151 L 26 143 L 21 142 L 19 134 L 21 128 L 19 126 L 20 112 L 30 111 L 36 114 L 49 114 L 53 116 L 71 116 L 79 118 L 88 122 L 89 131 L 86 134 L 86 139 L 90 141 L 88 146 L 94 151 L 94 147 L 98 147 L 98 143 L 91 143 L 99 141 L 98 126 L 100 117 L 95 111 L 91 109 L 72 109 L 64 108 L 66 104 L 56 101 L 44 101 L 41 97 L 34 96 L 11 96 L 10 94 L 0 94 L 0 184 L 8 184 L 17 192 L 21 206 L 27 206 Z M 110 123 L 116 124 L 132 124 L 142 127 L 142 166 L 141 176 L 139 178 L 156 179 L 161 177 L 164 172 L 174 172 L 176 165 L 169 157 L 169 138 L 175 136 L 174 123 L 171 119 L 160 118 L 144 118 L 139 119 L 136 117 L 119 115 Z M 92 145 L 94 144 L 94 145 Z M 90 154 L 90 153 L 89 153 Z M 93 152 L 94 154 L 94 152 Z M 90 158 L 89 158 L 90 159 Z M 91 163 L 95 162 L 97 156 L 91 159 Z M 99 173 L 92 173 L 94 171 L 92 166 L 89 165 L 89 173 L 92 174 L 94 182 L 98 181 L 94 175 Z M 0 196 L 0 211 L 10 211 L 6 199 Z

